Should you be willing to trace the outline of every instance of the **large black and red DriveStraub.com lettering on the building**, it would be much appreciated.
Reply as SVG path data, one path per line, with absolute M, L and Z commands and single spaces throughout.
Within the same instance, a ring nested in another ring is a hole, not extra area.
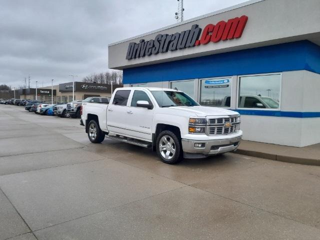
M 209 23 L 204 26 L 203 30 L 197 24 L 193 24 L 190 29 L 185 31 L 174 34 L 158 34 L 154 39 L 147 41 L 140 39 L 138 43 L 130 42 L 125 59 L 239 38 L 247 19 L 246 15 L 242 15 L 227 21 L 219 21 L 216 24 Z

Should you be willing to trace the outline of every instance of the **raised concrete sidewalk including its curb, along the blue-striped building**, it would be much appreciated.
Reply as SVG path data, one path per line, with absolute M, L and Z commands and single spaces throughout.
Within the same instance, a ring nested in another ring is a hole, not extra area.
M 241 140 L 235 153 L 277 161 L 320 166 L 320 143 L 305 147 L 293 147 Z

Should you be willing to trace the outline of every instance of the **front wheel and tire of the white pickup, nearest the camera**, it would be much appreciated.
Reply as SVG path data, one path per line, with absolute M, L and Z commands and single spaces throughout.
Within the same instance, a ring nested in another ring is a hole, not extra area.
M 164 163 L 175 164 L 182 160 L 181 143 L 172 131 L 161 131 L 155 144 L 156 152 Z

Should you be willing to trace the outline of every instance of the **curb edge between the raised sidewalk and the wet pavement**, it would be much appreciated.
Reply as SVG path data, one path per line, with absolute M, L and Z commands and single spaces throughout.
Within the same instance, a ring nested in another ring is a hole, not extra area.
M 245 150 L 245 149 L 237 149 L 233 151 L 236 154 L 242 154 L 247 156 L 261 157 L 270 160 L 276 161 L 284 161 L 290 163 L 297 163 L 303 165 L 312 165 L 312 166 L 320 166 L 320 159 L 312 159 L 312 158 L 303 158 L 303 157 L 295 157 L 295 156 L 287 156 L 287 155 L 277 155 L 274 153 L 266 153 L 261 151 L 253 151 L 253 150 Z

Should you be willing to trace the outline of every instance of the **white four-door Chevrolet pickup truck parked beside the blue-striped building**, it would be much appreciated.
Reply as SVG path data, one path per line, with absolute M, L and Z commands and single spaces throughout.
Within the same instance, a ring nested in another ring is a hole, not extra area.
M 80 112 L 91 142 L 107 135 L 151 147 L 169 164 L 233 151 L 242 136 L 239 113 L 200 106 L 169 88 L 117 88 L 109 104 L 83 102 Z

